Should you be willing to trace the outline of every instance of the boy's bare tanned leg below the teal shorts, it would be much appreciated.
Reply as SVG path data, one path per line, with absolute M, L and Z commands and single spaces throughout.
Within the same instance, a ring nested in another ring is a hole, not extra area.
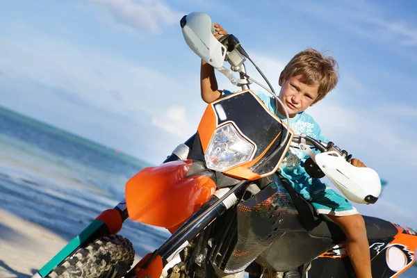
M 372 278 L 370 252 L 365 221 L 360 214 L 327 215 L 346 235 L 346 251 L 358 278 Z

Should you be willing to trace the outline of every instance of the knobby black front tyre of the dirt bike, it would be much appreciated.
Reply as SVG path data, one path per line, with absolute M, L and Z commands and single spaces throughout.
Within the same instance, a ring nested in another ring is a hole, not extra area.
M 48 278 L 120 278 L 135 257 L 132 243 L 122 236 L 104 236 L 76 250 L 52 270 Z

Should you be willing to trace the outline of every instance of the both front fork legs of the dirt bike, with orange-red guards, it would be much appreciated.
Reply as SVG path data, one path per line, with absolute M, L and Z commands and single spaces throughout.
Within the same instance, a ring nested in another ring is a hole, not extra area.
M 233 195 L 229 197 L 233 199 Z M 172 261 L 174 257 L 188 245 L 188 242 L 199 234 L 200 231 L 202 231 L 215 218 L 229 208 L 225 204 L 231 204 L 231 202 L 220 202 L 216 206 L 212 207 L 218 200 L 219 197 L 213 195 L 213 197 L 211 197 L 208 202 L 199 208 L 199 210 L 189 220 L 187 220 L 187 222 L 183 224 L 177 232 L 172 234 L 172 236 L 166 240 L 165 243 L 154 252 L 154 254 L 145 256 L 142 261 L 135 265 L 135 267 L 133 267 L 131 271 L 126 274 L 125 277 L 160 277 L 165 265 Z M 209 210 L 208 213 L 206 212 L 207 210 Z M 206 213 L 204 218 L 195 221 L 203 213 Z M 49 275 L 49 273 L 56 266 L 60 265 L 60 263 L 62 263 L 67 257 L 71 256 L 82 245 L 87 245 L 93 240 L 101 238 L 101 236 L 117 234 L 122 229 L 122 224 L 127 218 L 129 218 L 129 215 L 127 213 L 125 200 L 117 204 L 115 208 L 103 211 L 90 223 L 90 225 L 88 225 L 88 227 L 86 227 L 78 236 L 73 238 L 70 243 L 63 247 L 63 249 L 51 259 L 51 261 L 35 273 L 32 278 L 47 277 L 47 275 Z M 188 225 L 191 222 L 195 223 Z M 155 258 L 157 260 L 156 263 L 159 263 L 160 266 L 155 266 Z M 144 266 L 143 270 L 141 270 L 142 266 Z M 157 270 L 155 270 L 155 268 Z M 158 275 L 149 275 L 149 271 L 157 271 Z

